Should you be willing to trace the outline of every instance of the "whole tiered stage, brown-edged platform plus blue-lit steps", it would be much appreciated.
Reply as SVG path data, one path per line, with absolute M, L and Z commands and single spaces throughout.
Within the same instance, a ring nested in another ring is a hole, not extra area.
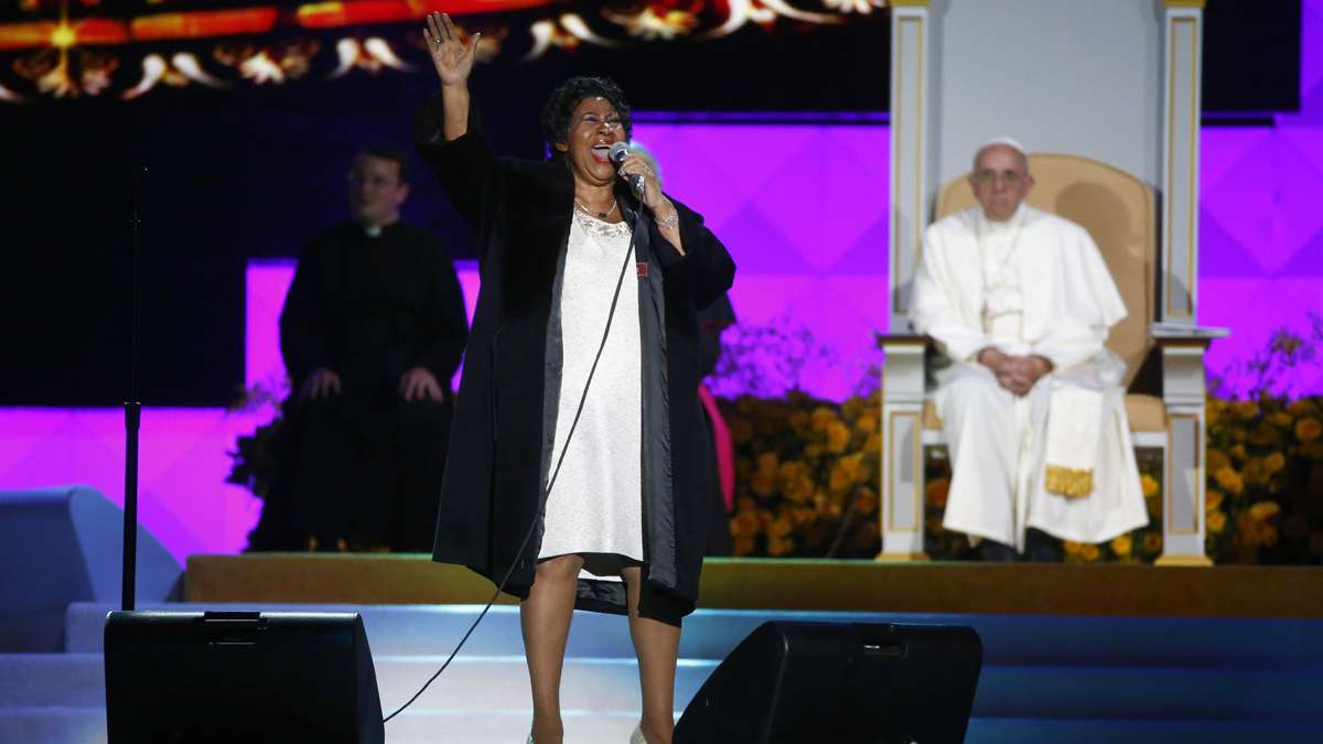
M 968 744 L 1323 741 L 1320 589 L 1316 568 L 712 560 L 684 624 L 675 712 L 769 620 L 964 625 L 983 646 Z M 361 613 L 389 712 L 491 592 L 426 556 L 213 555 L 188 561 L 185 602 L 140 609 Z M 511 601 L 386 725 L 388 743 L 524 739 L 528 673 Z M 105 741 L 110 609 L 70 605 L 64 653 L 0 655 L 0 740 Z M 566 741 L 627 739 L 638 667 L 623 618 L 576 613 L 562 706 Z

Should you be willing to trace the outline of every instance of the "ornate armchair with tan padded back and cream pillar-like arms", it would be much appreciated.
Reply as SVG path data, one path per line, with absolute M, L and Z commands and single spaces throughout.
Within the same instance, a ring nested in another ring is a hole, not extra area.
M 1126 412 L 1135 447 L 1163 450 L 1164 565 L 1207 565 L 1204 552 L 1204 351 L 1216 331 L 1154 323 L 1160 283 L 1156 201 L 1148 184 L 1088 158 L 1031 155 L 1028 203 L 1084 225 L 1098 244 L 1129 316 L 1107 348 L 1129 365 Z M 968 179 L 938 196 L 937 218 L 976 205 Z M 882 552 L 878 560 L 923 553 L 923 446 L 941 445 L 942 424 L 926 397 L 927 339 L 881 338 Z

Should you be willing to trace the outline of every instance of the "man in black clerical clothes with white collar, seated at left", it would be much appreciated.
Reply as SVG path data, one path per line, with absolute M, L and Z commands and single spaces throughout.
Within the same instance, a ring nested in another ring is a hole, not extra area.
M 348 185 L 353 218 L 308 241 L 284 301 L 294 395 L 278 492 L 250 543 L 426 552 L 468 338 L 463 295 L 442 241 L 400 218 L 401 151 L 360 152 Z

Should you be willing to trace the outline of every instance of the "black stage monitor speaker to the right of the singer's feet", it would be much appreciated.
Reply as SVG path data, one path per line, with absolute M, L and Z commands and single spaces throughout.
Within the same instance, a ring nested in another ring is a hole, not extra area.
M 693 696 L 675 744 L 959 744 L 982 666 L 971 628 L 765 622 Z

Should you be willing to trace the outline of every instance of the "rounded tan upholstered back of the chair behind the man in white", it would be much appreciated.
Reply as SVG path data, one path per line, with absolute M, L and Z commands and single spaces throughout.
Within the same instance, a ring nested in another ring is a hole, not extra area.
M 1125 171 L 1074 155 L 1029 155 L 1029 173 L 1033 188 L 1025 201 L 1089 230 L 1117 282 L 1129 315 L 1111 330 L 1107 348 L 1126 361 L 1129 387 L 1148 355 L 1148 326 L 1154 318 L 1158 257 L 1154 191 Z M 935 218 L 975 205 L 966 173 L 942 188 Z

